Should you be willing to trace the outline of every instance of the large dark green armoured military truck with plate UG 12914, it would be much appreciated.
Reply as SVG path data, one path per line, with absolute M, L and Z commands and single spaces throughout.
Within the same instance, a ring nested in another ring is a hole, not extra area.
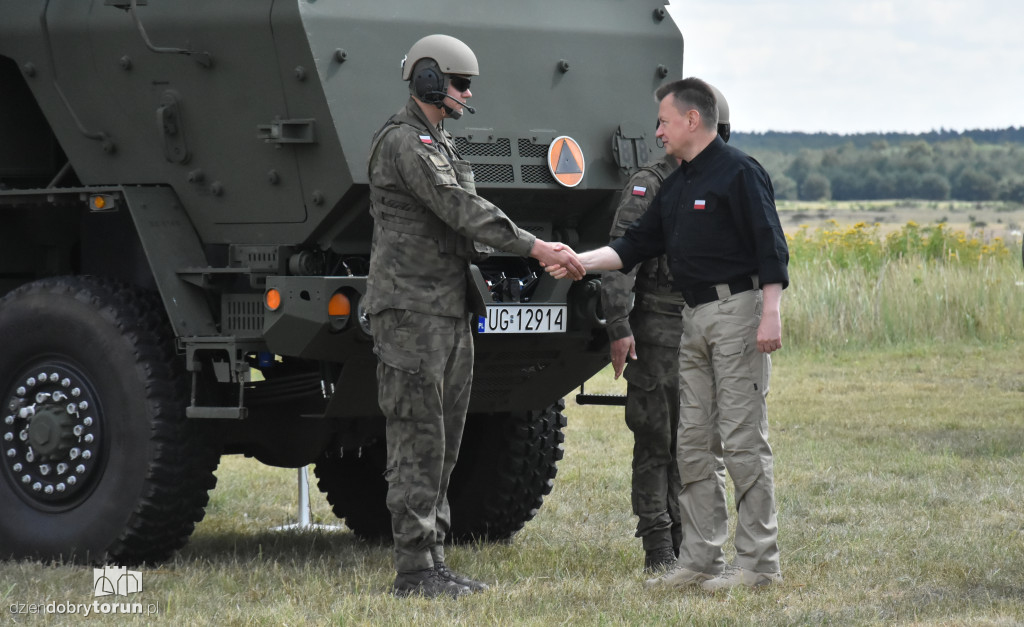
M 478 192 L 606 243 L 682 75 L 663 2 L 0 0 L 0 556 L 166 559 L 221 455 L 312 464 L 350 529 L 390 533 L 367 157 L 431 33 L 480 62 L 447 125 Z M 607 363 L 600 277 L 503 254 L 473 276 L 453 532 L 504 539 L 551 490 L 563 396 Z

